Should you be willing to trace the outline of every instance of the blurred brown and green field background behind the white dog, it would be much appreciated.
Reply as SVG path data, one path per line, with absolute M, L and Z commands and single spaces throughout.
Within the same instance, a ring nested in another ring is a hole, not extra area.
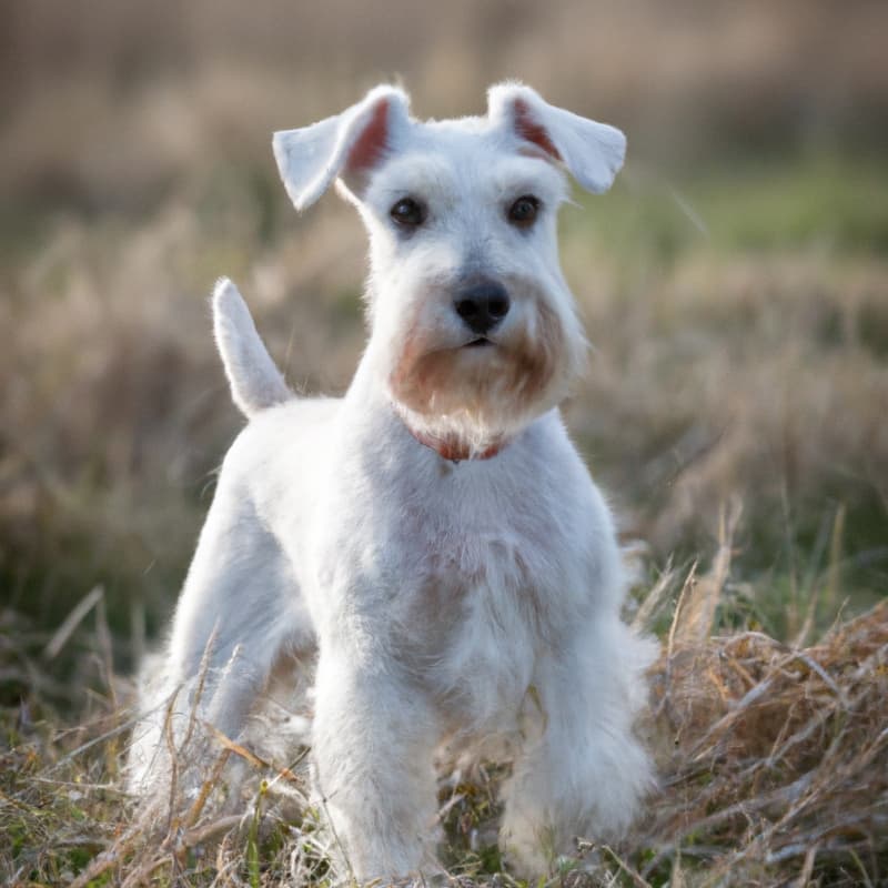
M 595 345 L 566 414 L 642 586 L 730 514 L 723 628 L 884 597 L 886 41 L 884 2 L 0 2 L 0 640 L 97 585 L 118 668 L 162 627 L 242 424 L 219 275 L 294 386 L 347 385 L 364 235 L 332 194 L 296 215 L 270 137 L 387 80 L 441 118 L 519 78 L 627 133 L 562 216 Z

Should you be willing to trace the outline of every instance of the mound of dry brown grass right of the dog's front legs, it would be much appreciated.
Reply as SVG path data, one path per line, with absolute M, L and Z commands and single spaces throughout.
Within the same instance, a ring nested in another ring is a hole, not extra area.
M 757 632 L 677 646 L 655 676 L 673 749 L 642 874 L 884 882 L 887 658 L 886 603 L 808 648 Z

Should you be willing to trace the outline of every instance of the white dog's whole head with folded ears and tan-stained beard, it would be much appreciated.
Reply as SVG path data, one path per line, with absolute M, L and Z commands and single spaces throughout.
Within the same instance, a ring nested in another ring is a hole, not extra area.
M 484 118 L 420 122 L 377 87 L 275 133 L 296 209 L 335 179 L 367 226 L 367 360 L 414 434 L 478 454 L 564 397 L 586 350 L 557 255 L 564 170 L 606 191 L 624 152 L 618 130 L 517 83 Z

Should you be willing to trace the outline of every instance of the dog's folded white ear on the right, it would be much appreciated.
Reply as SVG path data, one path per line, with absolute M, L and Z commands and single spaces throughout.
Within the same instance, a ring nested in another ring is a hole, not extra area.
M 521 83 L 491 87 L 487 117 L 562 161 L 583 188 L 596 194 L 610 188 L 623 165 L 626 137 L 619 130 L 555 108 Z

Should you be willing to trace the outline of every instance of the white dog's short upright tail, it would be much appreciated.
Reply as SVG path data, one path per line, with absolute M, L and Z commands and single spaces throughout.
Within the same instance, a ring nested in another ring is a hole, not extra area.
M 250 309 L 228 279 L 213 291 L 213 331 L 231 397 L 245 416 L 295 397 L 256 332 Z

